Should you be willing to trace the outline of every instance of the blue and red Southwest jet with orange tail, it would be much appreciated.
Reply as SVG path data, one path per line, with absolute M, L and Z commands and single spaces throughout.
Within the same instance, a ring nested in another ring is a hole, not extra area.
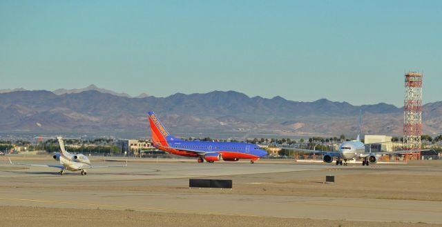
M 250 159 L 250 163 L 267 155 L 267 152 L 255 144 L 211 141 L 183 141 L 173 137 L 167 132 L 154 112 L 149 111 L 149 124 L 151 124 L 153 146 L 175 155 L 198 157 L 198 162 L 204 160 L 238 161 Z

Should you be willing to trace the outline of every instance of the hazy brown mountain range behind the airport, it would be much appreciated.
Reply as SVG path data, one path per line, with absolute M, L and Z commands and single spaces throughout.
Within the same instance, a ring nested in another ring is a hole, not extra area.
M 4 90 L 2 90 L 4 91 Z M 338 136 L 354 137 L 363 110 L 363 134 L 402 135 L 403 109 L 378 103 L 352 106 L 319 99 L 289 101 L 282 97 L 248 97 L 240 92 L 169 97 L 125 93 L 89 86 L 54 92 L 0 92 L 1 132 L 138 132 L 148 136 L 147 111 L 154 110 L 169 131 L 184 137 L 200 132 L 219 137 Z M 425 134 L 442 133 L 442 102 L 423 108 Z

